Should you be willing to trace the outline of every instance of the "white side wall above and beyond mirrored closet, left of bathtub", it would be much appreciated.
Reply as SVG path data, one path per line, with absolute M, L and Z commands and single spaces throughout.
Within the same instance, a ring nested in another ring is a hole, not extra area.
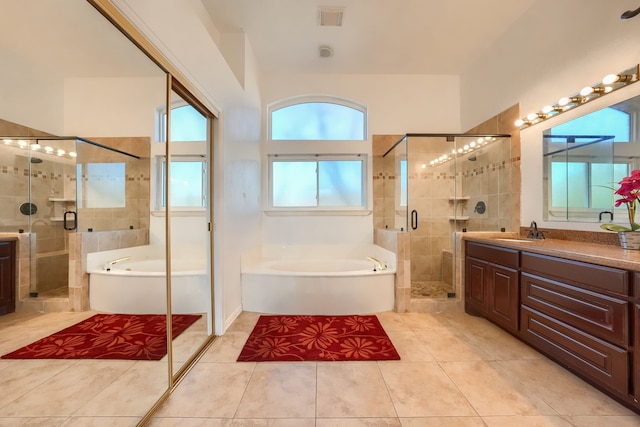
M 244 72 L 234 74 L 216 45 L 219 34 L 199 0 L 166 1 L 162 7 L 156 0 L 113 3 L 180 69 L 218 117 L 212 153 L 213 267 L 215 332 L 222 333 L 241 311 L 240 254 L 259 243 L 261 235 L 261 103 L 253 51 L 245 38 Z M 242 62 L 234 61 L 234 66 Z

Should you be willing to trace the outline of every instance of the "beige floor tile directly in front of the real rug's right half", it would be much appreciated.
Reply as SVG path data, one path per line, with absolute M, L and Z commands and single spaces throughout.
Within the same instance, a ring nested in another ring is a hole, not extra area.
M 396 416 L 375 362 L 318 363 L 317 401 L 320 418 Z

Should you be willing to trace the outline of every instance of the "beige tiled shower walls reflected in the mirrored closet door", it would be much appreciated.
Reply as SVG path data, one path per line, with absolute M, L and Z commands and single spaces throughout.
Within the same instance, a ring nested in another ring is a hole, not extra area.
M 0 136 L 17 140 L 20 137 L 51 135 L 0 119 Z M 125 207 L 78 209 L 78 232 L 64 230 L 61 221 L 65 211 L 76 210 L 75 162 L 65 163 L 61 159 L 53 161 L 54 157 L 42 154 L 38 155 L 43 159 L 41 163 L 30 163 L 24 150 L 13 143 L 10 145 L 0 141 L 0 233 L 15 235 L 20 239 L 17 311 L 88 309 L 86 254 L 149 243 L 150 139 L 88 139 L 141 159 L 115 155 L 118 161 L 126 162 Z M 75 142 L 69 144 L 71 147 L 64 147 L 65 151 L 75 149 Z M 109 160 L 108 156 L 112 156 L 103 148 L 79 144 L 78 150 L 83 149 L 85 152 L 79 153 L 83 162 L 105 162 Z M 32 180 L 31 189 L 29 177 Z M 29 201 L 29 191 L 37 211 L 32 215 L 24 215 L 20 212 L 20 206 Z M 29 220 L 32 233 L 28 233 Z M 89 228 L 92 232 L 88 232 Z M 19 230 L 25 233 L 20 234 Z M 30 261 L 32 252 L 36 254 L 36 268 Z M 29 298 L 30 283 L 34 276 L 40 293 L 68 283 L 69 300 Z

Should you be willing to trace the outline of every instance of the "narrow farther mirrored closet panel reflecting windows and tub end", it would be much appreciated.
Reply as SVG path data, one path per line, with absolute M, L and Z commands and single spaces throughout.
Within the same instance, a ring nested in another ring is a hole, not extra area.
M 200 318 L 171 341 L 174 378 L 213 332 L 210 242 L 209 233 L 203 232 L 208 225 L 207 117 L 180 93 L 171 92 L 168 147 L 156 156 L 159 188 L 165 189 L 156 203 L 170 221 L 171 312 Z

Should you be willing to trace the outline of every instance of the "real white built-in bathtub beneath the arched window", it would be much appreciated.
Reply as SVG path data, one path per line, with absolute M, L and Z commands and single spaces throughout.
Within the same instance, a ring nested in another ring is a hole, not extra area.
M 379 246 L 262 248 L 260 254 L 243 257 L 243 310 L 308 315 L 393 310 L 396 258 Z M 374 269 L 368 256 L 387 268 Z

